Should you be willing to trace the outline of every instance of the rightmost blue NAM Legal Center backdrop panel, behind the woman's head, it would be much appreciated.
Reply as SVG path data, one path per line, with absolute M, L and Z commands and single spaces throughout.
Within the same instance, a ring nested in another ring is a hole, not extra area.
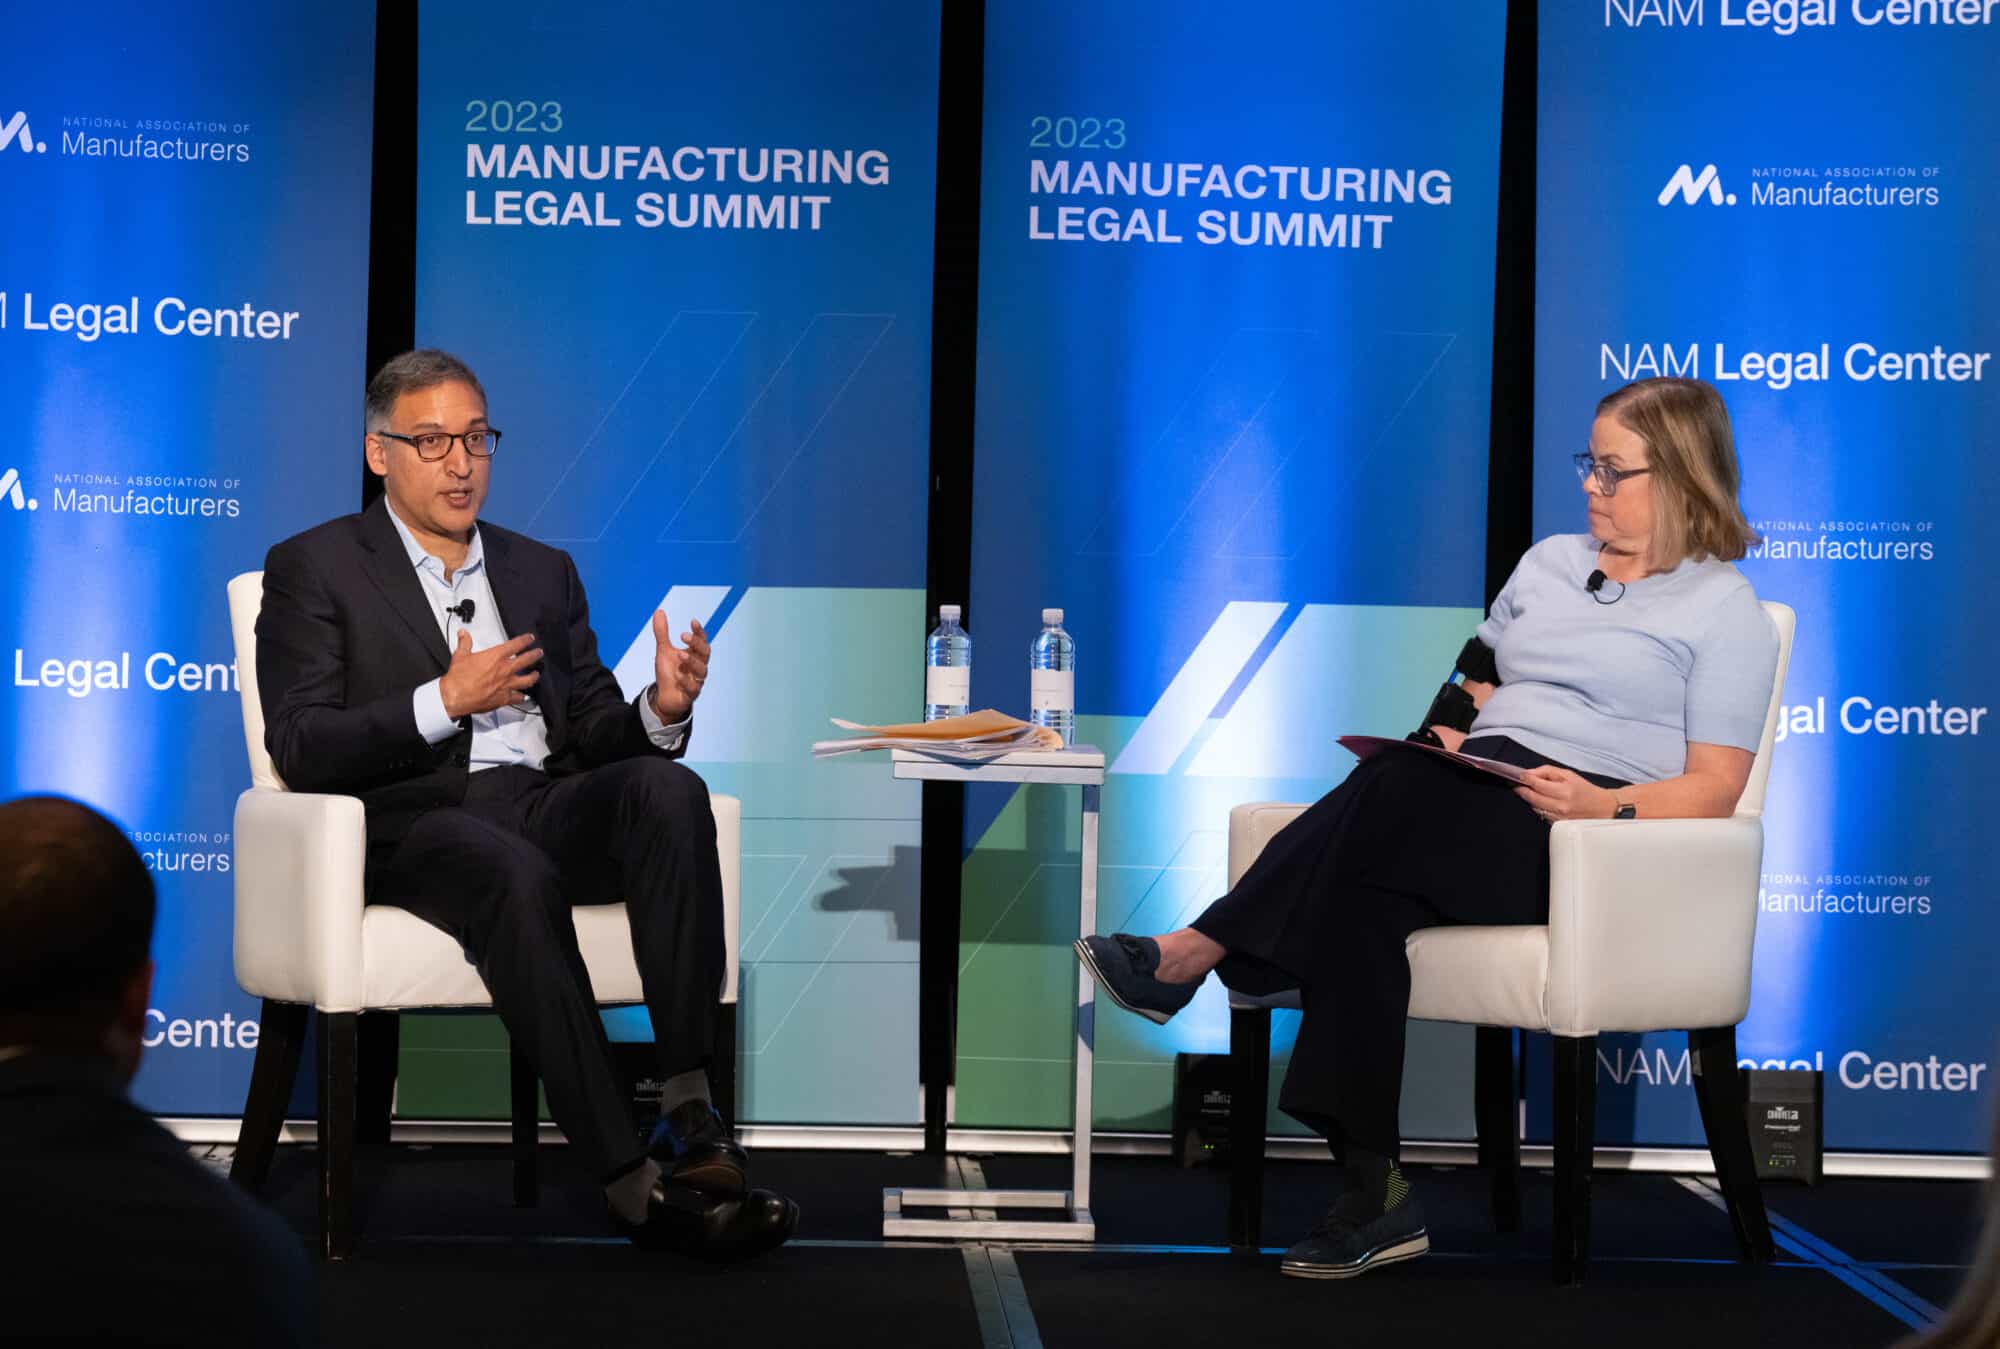
M 1824 1071 L 1836 1149 L 1978 1151 L 1994 1101 L 2000 28 L 1974 10 L 1542 8 L 1536 532 L 1584 528 L 1596 398 L 1722 390 L 1744 574 L 1798 610 L 1740 1051 Z M 1678 1035 L 1604 1041 L 1598 1101 L 1600 1141 L 1702 1137 Z

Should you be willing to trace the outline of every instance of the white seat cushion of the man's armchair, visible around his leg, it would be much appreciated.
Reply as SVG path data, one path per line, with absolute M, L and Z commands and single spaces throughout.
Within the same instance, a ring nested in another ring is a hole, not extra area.
M 586 905 L 570 915 L 598 1003 L 642 1001 L 626 907 Z M 394 905 L 368 905 L 362 915 L 362 971 L 364 1007 L 492 1007 L 458 941 Z

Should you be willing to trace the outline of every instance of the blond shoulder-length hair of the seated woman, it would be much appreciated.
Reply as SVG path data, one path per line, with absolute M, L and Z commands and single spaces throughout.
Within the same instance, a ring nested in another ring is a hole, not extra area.
M 1604 396 L 1598 416 L 1610 416 L 1646 442 L 1652 468 L 1652 556 L 1648 566 L 1672 570 L 1684 560 L 1738 560 L 1756 542 L 1736 470 L 1736 436 L 1722 394 L 1704 380 L 1636 380 Z

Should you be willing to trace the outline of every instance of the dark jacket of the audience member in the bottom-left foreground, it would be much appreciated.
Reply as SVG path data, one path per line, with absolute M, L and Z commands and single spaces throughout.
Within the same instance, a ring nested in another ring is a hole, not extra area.
M 316 1345 L 300 1235 L 188 1155 L 110 1063 L 0 1063 L 0 1341 Z

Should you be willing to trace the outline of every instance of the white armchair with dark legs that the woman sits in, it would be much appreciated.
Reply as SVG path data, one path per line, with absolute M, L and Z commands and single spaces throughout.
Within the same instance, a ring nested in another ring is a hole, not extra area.
M 1514 1029 L 1554 1037 L 1556 1277 L 1580 1281 L 1590 1253 L 1590 1155 L 1596 1037 L 1688 1031 L 1702 1129 L 1744 1259 L 1772 1255 L 1750 1159 L 1736 1023 L 1750 1011 L 1764 785 L 1796 614 L 1766 602 L 1778 628 L 1778 672 L 1750 783 L 1728 819 L 1562 821 L 1548 837 L 1548 927 L 1432 927 L 1412 933 L 1410 1017 L 1478 1027 L 1474 1101 L 1480 1165 L 1490 1169 L 1502 1231 L 1520 1221 Z M 1230 811 L 1230 885 L 1304 805 Z M 1262 1227 L 1264 1101 L 1270 1009 L 1296 991 L 1230 993 L 1230 1243 L 1256 1247 Z

